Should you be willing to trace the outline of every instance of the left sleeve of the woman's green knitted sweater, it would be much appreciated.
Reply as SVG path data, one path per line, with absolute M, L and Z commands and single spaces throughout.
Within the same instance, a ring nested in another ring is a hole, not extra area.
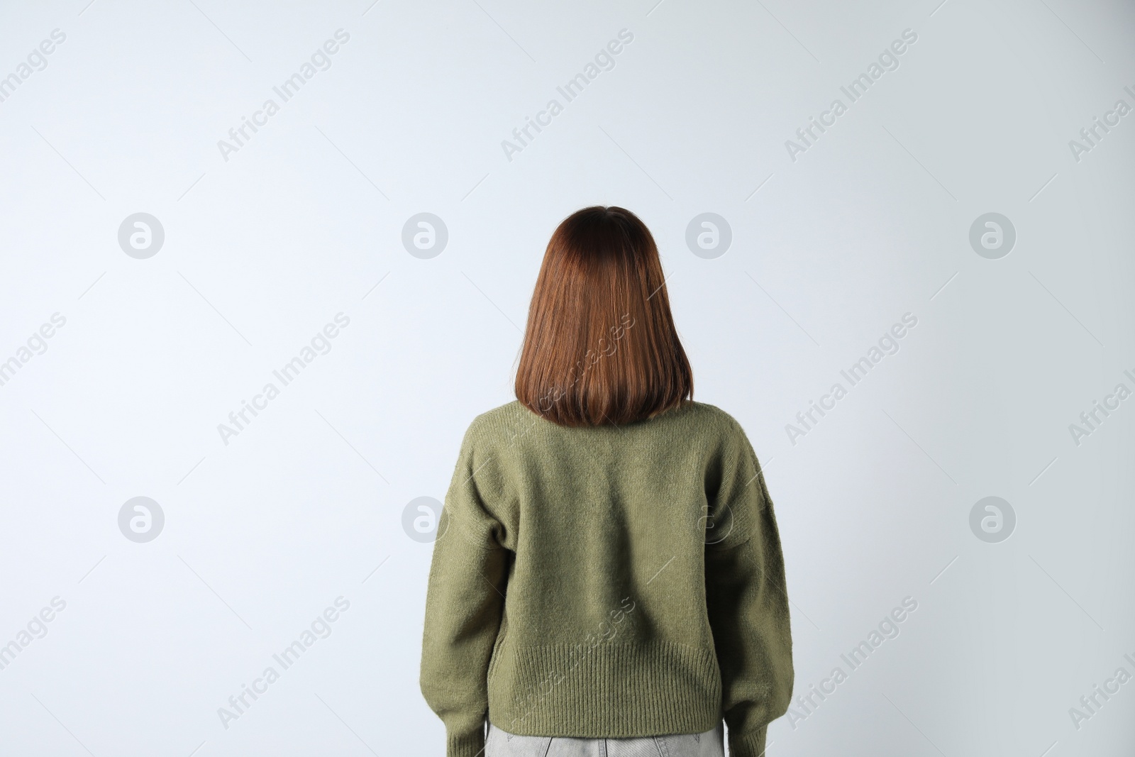
M 420 685 L 445 723 L 447 757 L 484 750 L 488 666 L 507 581 L 499 523 L 474 478 L 486 462 L 478 460 L 471 426 L 438 519 L 426 594 Z

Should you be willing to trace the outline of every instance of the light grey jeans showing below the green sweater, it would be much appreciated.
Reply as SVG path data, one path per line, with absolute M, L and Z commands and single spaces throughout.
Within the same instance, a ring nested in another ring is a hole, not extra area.
M 636 739 L 515 735 L 489 723 L 485 757 L 725 757 L 722 723 L 705 733 Z

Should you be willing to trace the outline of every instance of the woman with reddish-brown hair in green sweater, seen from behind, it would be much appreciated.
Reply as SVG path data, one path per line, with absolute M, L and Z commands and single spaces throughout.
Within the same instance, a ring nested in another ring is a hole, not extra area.
M 693 402 L 630 211 L 552 235 L 515 392 L 465 432 L 434 546 L 421 689 L 448 757 L 721 756 L 723 718 L 762 755 L 792 693 L 773 505 L 738 422 Z

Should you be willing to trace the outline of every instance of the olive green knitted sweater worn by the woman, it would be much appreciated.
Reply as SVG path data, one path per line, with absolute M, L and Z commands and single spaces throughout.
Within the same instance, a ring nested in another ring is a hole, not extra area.
M 758 757 L 792 693 L 784 563 L 740 424 L 687 401 L 568 428 L 478 415 L 438 521 L 421 690 L 448 757 L 526 735 L 729 727 Z

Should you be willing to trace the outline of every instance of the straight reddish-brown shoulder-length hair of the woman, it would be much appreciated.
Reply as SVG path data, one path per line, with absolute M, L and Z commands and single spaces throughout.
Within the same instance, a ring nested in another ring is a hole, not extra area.
M 631 211 L 583 208 L 552 235 L 515 392 L 560 426 L 630 423 L 693 399 L 658 247 Z

